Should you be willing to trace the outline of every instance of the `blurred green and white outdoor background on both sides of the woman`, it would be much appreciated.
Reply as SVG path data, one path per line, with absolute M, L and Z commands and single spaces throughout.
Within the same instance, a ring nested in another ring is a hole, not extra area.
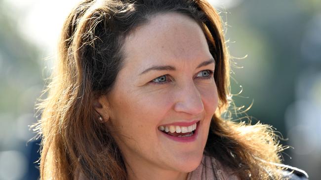
M 36 180 L 29 130 L 64 18 L 79 0 L 0 0 L 0 180 Z M 284 163 L 321 177 L 321 0 L 211 0 L 225 24 L 236 106 L 293 148 Z M 245 57 L 245 58 L 243 58 Z M 234 116 L 241 118 L 243 115 Z M 27 143 L 28 142 L 28 143 Z

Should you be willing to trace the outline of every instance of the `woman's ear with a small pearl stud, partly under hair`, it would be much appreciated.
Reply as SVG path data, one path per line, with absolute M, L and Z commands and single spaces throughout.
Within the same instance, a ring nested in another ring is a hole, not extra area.
M 97 113 L 97 120 L 106 122 L 110 118 L 110 105 L 105 95 L 100 95 L 94 99 L 94 109 Z M 101 118 L 100 118 L 101 117 Z

